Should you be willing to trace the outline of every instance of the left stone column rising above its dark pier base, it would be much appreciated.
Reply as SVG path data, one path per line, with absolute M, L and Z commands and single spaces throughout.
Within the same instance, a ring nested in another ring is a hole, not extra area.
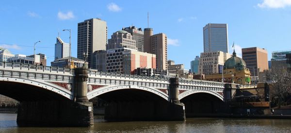
M 88 62 L 84 66 L 75 69 L 75 98 L 76 102 L 88 102 L 87 79 Z

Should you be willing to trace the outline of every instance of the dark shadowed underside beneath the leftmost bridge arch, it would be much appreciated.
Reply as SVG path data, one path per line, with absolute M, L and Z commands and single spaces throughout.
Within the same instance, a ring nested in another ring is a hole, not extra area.
M 17 101 L 68 100 L 45 88 L 7 81 L 0 81 L 0 94 Z

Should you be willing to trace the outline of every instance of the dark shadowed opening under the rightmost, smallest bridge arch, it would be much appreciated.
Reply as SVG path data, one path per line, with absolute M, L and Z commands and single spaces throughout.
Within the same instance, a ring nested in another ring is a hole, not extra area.
M 185 104 L 185 113 L 187 117 L 191 116 L 204 116 L 217 113 L 225 113 L 225 103 L 208 93 L 194 93 L 182 100 Z

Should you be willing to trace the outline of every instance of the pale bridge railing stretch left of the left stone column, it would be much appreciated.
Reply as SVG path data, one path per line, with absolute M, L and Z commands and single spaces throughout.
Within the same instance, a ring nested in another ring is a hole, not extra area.
M 74 73 L 73 69 L 64 67 L 54 67 L 54 66 L 38 66 L 32 64 L 22 64 L 22 63 L 11 63 L 11 62 L 0 62 L 1 68 L 11 68 L 11 69 L 21 69 L 21 70 L 33 70 L 33 71 L 43 71 L 43 72 L 56 72 L 71 74 Z

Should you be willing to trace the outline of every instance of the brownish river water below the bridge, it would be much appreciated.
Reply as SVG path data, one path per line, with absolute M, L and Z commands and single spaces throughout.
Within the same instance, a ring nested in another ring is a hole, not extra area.
M 0 113 L 0 133 L 290 133 L 291 119 L 187 118 L 186 121 L 106 122 L 91 128 L 17 127 L 17 114 Z

